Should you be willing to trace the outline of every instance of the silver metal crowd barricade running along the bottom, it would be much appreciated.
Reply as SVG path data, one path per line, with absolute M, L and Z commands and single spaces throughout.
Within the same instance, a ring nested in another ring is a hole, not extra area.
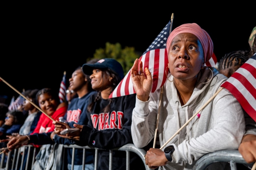
M 74 158 L 75 158 L 75 149 L 83 149 L 83 156 L 82 156 L 82 167 L 84 170 L 84 165 L 85 165 L 85 151 L 86 149 L 94 149 L 95 150 L 95 155 L 94 155 L 94 170 L 98 169 L 98 150 L 105 150 L 105 149 L 99 149 L 99 148 L 94 148 L 91 146 L 78 146 L 78 145 L 62 145 L 63 150 L 62 150 L 62 170 L 64 169 L 64 157 L 66 154 L 66 149 L 67 148 L 72 148 L 72 170 L 74 168 Z M 23 147 L 28 148 L 29 152 L 27 152 L 27 159 L 26 162 L 24 162 L 24 154 L 21 156 L 20 153 L 20 148 L 13 150 L 12 152 L 8 153 L 7 159 L 6 159 L 6 165 L 5 164 L 5 153 L 2 153 L 0 155 L 1 162 L 0 162 L 0 170 L 20 170 L 20 167 L 23 166 L 23 163 L 26 163 L 26 168 L 25 170 L 30 170 L 32 167 L 29 167 L 29 160 L 32 160 L 32 165 L 35 162 L 35 147 L 33 145 L 24 145 Z M 30 150 L 33 150 L 33 154 L 30 154 Z M 145 169 L 146 170 L 152 170 L 151 168 L 148 167 L 148 165 L 145 164 L 145 159 L 144 155 L 146 154 L 146 151 L 144 149 L 139 149 L 134 144 L 126 144 L 122 147 L 115 148 L 112 150 L 109 150 L 109 169 L 112 169 L 112 161 L 113 161 L 113 150 L 120 150 L 123 152 L 126 152 L 126 170 L 130 170 L 130 152 L 134 152 L 137 155 L 139 155 L 140 159 L 142 159 Z M 20 159 L 21 156 L 21 164 L 18 164 L 18 160 Z M 56 156 L 54 157 L 56 159 Z M 236 163 L 239 164 L 244 164 L 247 167 L 252 167 L 253 163 L 247 164 L 245 162 L 244 158 L 242 158 L 242 155 L 239 153 L 238 150 L 219 150 L 216 152 L 208 153 L 204 156 L 202 156 L 194 165 L 193 170 L 205 170 L 210 164 L 215 163 L 215 162 L 229 162 L 230 163 L 230 168 L 231 170 L 236 170 Z M 11 167 L 9 167 L 11 165 Z M 19 166 L 19 167 L 18 167 Z M 161 169 L 160 167 L 158 168 L 159 170 Z

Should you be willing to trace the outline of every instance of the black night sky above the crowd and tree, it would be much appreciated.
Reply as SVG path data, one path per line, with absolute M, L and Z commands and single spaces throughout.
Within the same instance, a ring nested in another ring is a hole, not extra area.
M 107 4 L 106 4 L 107 5 Z M 192 7 L 192 6 L 195 7 Z M 11 10 L 2 21 L 0 77 L 18 91 L 50 87 L 58 91 L 63 72 L 72 72 L 106 42 L 144 52 L 174 13 L 173 27 L 197 23 L 211 36 L 218 60 L 228 52 L 249 50 L 256 26 L 252 4 L 199 9 L 198 4 L 70 6 Z M 204 12 L 203 12 L 204 11 Z M 240 12 L 244 11 L 244 12 Z M 68 80 L 68 79 L 67 79 Z M 0 95 L 18 93 L 0 82 Z

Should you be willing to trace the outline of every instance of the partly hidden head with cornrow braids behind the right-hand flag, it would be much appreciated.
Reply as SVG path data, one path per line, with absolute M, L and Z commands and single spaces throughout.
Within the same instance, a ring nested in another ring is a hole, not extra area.
M 226 76 L 230 77 L 235 71 L 241 67 L 247 60 L 250 52 L 247 50 L 238 50 L 226 53 L 219 62 L 219 72 L 227 72 Z

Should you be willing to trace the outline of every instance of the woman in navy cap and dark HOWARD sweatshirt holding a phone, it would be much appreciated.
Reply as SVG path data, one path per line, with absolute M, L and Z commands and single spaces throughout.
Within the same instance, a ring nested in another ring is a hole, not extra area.
M 60 135 L 78 140 L 78 145 L 92 146 L 98 151 L 98 169 L 109 169 L 109 150 L 133 143 L 131 137 L 132 111 L 136 94 L 108 99 L 123 78 L 123 68 L 114 59 L 101 59 L 95 64 L 84 64 L 82 70 L 91 74 L 91 86 L 98 91 L 89 99 L 87 125 L 74 124 L 81 131 Z M 55 125 L 56 128 L 66 128 Z M 126 168 L 126 152 L 113 150 L 113 170 Z M 130 152 L 130 169 L 145 169 L 139 156 Z

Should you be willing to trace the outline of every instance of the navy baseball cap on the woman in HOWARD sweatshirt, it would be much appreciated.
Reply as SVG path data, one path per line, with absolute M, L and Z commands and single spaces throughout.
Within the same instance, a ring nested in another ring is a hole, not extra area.
M 109 68 L 117 73 L 121 79 L 124 77 L 122 65 L 113 58 L 104 58 L 94 64 L 84 64 L 82 66 L 82 71 L 84 74 L 91 75 L 93 73 L 93 69 L 95 68 Z

